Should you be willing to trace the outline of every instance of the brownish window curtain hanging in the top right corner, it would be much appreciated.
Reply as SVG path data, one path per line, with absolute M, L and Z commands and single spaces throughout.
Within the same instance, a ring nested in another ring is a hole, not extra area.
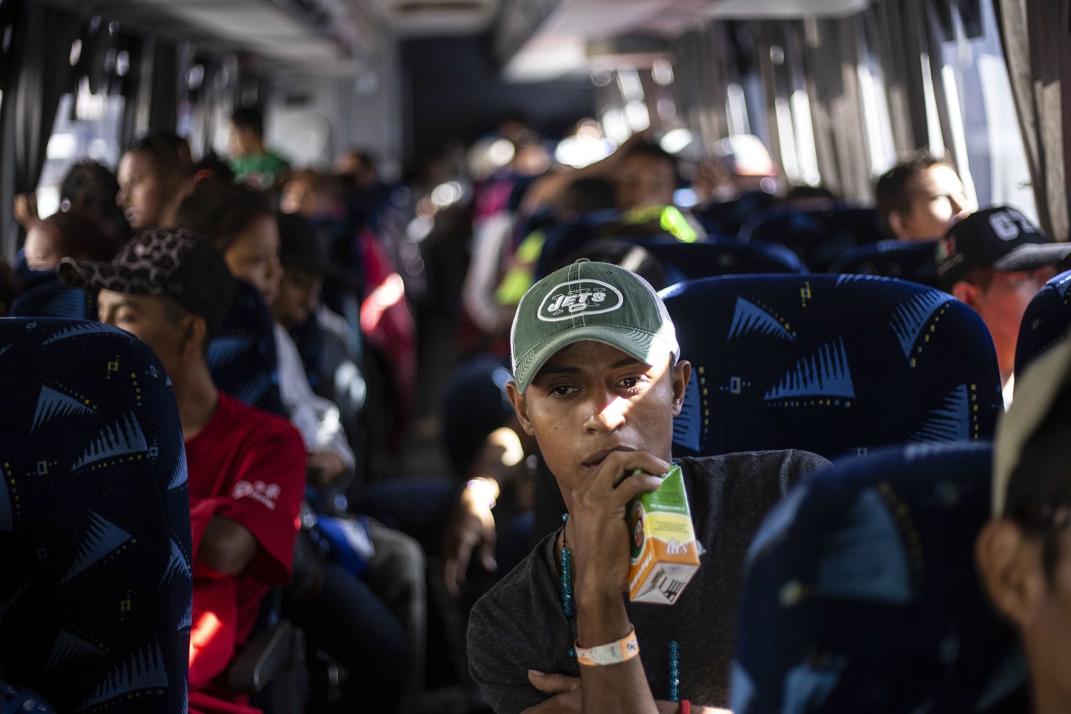
M 1069 239 L 1071 1 L 995 0 L 1041 228 Z

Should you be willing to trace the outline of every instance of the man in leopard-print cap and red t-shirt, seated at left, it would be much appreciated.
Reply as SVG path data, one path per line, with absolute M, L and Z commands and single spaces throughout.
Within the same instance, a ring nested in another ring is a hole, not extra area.
M 265 593 L 289 579 L 305 449 L 285 420 L 212 383 L 208 343 L 235 298 L 233 278 L 207 241 L 171 228 L 142 232 L 110 263 L 65 258 L 59 270 L 100 290 L 101 321 L 149 345 L 175 389 L 194 544 L 190 709 L 255 712 L 213 680 L 245 643 Z

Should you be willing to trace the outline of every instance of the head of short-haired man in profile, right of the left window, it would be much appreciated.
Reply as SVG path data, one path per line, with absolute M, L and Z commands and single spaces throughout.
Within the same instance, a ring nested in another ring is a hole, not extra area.
M 191 188 L 188 151 L 183 139 L 150 134 L 119 159 L 116 202 L 135 233 L 176 225 L 179 204 Z

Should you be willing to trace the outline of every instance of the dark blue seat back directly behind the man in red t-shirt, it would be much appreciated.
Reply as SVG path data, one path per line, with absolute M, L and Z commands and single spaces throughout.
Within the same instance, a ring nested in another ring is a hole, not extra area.
M 278 396 L 275 319 L 259 290 L 236 282 L 235 305 L 208 348 L 212 381 L 239 401 L 286 416 Z

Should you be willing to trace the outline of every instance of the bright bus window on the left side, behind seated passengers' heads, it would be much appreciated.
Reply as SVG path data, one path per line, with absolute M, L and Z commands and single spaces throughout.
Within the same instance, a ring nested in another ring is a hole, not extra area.
M 37 183 L 37 215 L 46 218 L 59 210 L 60 182 L 74 163 L 91 158 L 111 168 L 119 163 L 119 133 L 125 104 L 118 94 L 90 93 L 85 77 L 78 87 L 77 101 L 74 94 L 63 95 Z

